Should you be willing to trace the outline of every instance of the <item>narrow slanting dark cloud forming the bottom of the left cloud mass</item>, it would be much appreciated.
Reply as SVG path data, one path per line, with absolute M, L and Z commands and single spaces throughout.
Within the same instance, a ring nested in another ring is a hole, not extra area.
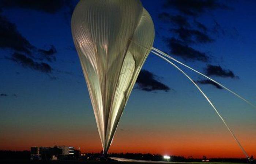
M 31 59 L 23 54 L 20 54 L 18 52 L 15 52 L 14 54 L 12 54 L 10 59 L 21 64 L 23 67 L 29 67 L 33 70 L 38 70 L 43 73 L 51 73 L 52 72 L 52 67 L 50 65 L 48 65 L 47 63 L 35 62 L 33 59 Z

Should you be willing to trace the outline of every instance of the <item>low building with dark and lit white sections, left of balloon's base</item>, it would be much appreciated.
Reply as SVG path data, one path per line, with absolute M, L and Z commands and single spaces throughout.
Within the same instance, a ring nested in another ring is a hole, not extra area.
M 31 160 L 76 159 L 79 151 L 71 146 L 31 147 Z

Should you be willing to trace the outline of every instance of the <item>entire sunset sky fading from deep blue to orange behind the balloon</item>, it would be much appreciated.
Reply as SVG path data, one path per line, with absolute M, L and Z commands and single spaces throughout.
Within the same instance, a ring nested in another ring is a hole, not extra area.
M 154 47 L 256 104 L 256 1 L 141 0 Z M 0 1 L 0 150 L 102 150 L 70 19 L 78 0 Z M 178 65 L 180 66 L 180 65 Z M 210 97 L 249 156 L 256 109 L 181 67 Z M 150 54 L 109 152 L 245 157 L 195 86 Z

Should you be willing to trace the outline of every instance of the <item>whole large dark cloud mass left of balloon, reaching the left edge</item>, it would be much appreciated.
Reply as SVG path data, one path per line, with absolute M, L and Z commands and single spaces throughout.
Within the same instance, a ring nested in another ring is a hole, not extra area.
M 16 25 L 9 22 L 9 20 L 0 15 L 0 48 L 10 49 L 14 51 L 11 59 L 20 63 L 24 67 L 29 67 L 43 73 L 51 73 L 52 67 L 45 62 L 37 62 L 35 60 L 56 61 L 54 54 L 57 53 L 56 48 L 51 45 L 49 50 L 44 50 L 33 46 L 25 37 L 23 37 L 17 30 Z

